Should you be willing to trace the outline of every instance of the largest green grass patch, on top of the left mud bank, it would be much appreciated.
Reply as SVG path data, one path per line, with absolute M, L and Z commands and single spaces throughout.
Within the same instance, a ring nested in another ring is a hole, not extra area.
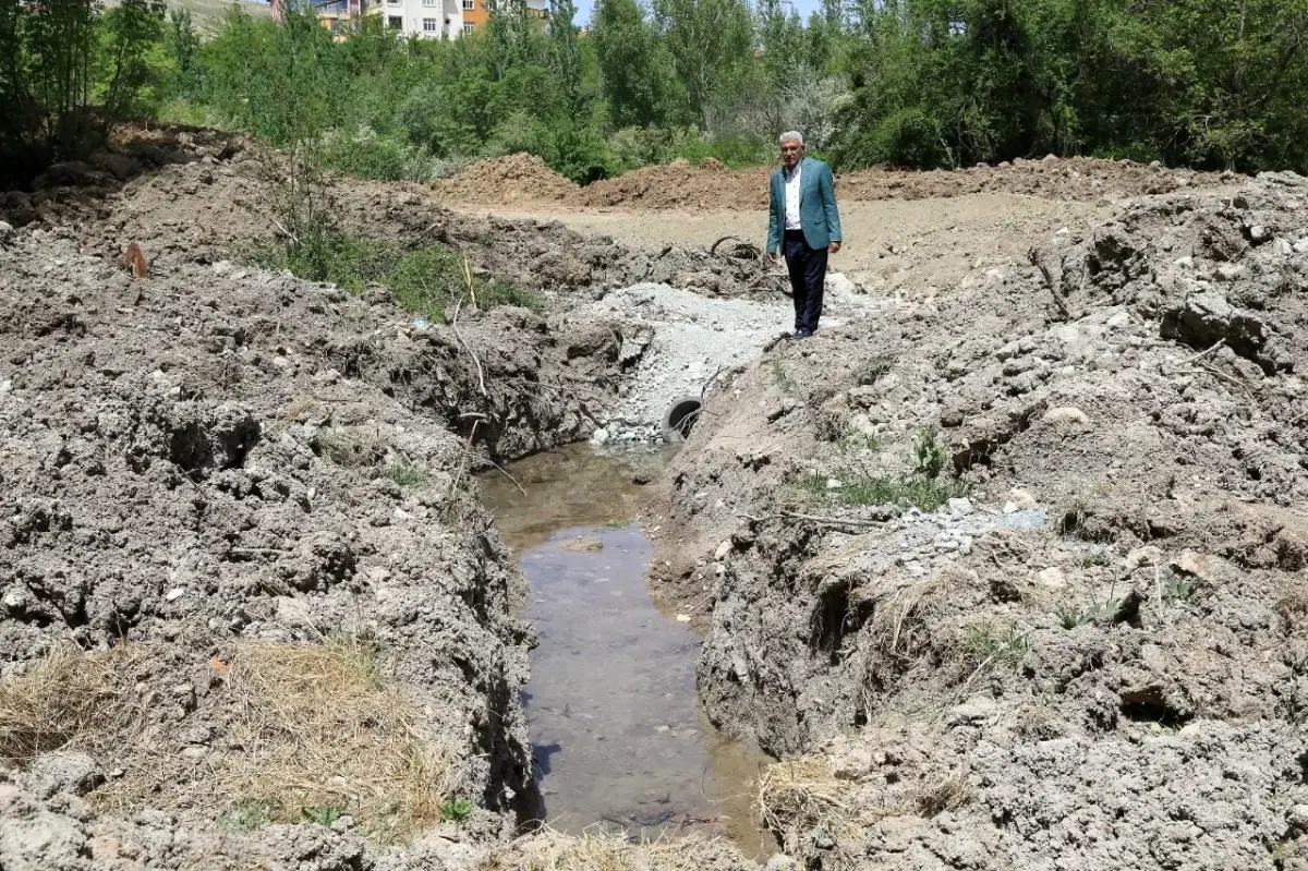
M 446 319 L 460 297 L 468 294 L 471 264 L 445 246 L 408 251 L 394 242 L 344 234 L 322 234 L 285 248 L 258 248 L 250 259 L 272 269 L 289 269 L 309 281 L 330 281 L 353 294 L 381 285 L 402 309 L 433 323 Z M 535 293 L 498 279 L 471 276 L 472 296 L 483 311 L 519 306 L 539 311 L 544 301 Z

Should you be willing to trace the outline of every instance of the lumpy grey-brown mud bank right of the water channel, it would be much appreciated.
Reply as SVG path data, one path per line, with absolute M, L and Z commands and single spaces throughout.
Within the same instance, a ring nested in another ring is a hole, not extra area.
M 787 851 L 1298 867 L 1305 199 L 1144 200 L 709 396 L 666 552 Z

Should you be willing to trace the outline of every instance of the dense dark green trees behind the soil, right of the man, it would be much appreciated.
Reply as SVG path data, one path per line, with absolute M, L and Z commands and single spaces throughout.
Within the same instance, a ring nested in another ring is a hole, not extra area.
M 854 84 L 837 136 L 845 166 L 1045 153 L 1308 165 L 1308 0 L 855 7 L 842 47 Z M 833 63 L 828 26 L 811 37 Z

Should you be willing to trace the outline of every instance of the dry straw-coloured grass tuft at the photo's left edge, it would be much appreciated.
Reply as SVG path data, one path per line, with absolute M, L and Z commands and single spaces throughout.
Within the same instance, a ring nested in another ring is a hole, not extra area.
M 143 655 L 136 645 L 93 654 L 61 645 L 0 684 L 0 759 L 25 765 L 48 751 L 95 751 L 129 734 L 137 709 L 126 675 Z

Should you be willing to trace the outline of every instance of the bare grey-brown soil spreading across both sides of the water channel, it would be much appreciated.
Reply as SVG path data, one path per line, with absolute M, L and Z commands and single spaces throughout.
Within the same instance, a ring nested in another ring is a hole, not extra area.
M 471 473 L 689 361 L 630 285 L 783 313 L 747 246 L 706 251 L 757 243 L 761 171 L 542 200 L 481 167 L 484 217 L 341 180 L 347 229 L 547 299 L 455 328 L 243 263 L 262 165 L 177 128 L 0 195 L 0 864 L 756 867 L 517 834 L 534 636 Z M 781 760 L 769 868 L 1308 868 L 1308 182 L 840 190 L 848 309 L 705 373 L 655 484 L 701 704 Z M 570 211 L 602 196 L 627 211 Z M 334 778 L 356 732 L 420 764 Z

